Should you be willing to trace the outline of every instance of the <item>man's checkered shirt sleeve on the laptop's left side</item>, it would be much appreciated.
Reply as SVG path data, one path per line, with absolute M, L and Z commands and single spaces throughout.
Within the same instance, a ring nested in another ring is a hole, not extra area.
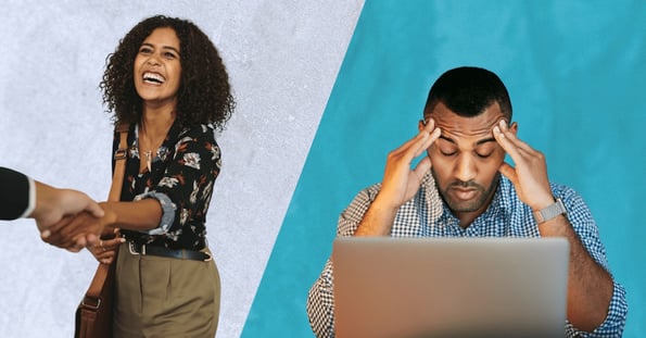
M 339 216 L 337 236 L 353 236 L 364 214 L 379 191 L 379 185 L 360 191 Z M 307 293 L 307 317 L 309 326 L 318 338 L 334 337 L 334 276 L 329 259 L 322 273 Z

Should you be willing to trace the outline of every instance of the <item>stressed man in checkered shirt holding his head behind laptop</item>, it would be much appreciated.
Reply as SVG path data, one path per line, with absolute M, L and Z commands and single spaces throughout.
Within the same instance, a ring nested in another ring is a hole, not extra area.
M 338 235 L 565 237 L 566 335 L 619 337 L 625 291 L 609 273 L 591 212 L 571 188 L 549 181 L 544 155 L 517 137 L 511 115 L 507 89 L 494 73 L 444 73 L 431 87 L 419 134 L 389 153 L 381 184 L 343 211 Z M 505 163 L 506 154 L 515 166 Z M 331 261 L 309 290 L 307 314 L 317 337 L 334 336 Z

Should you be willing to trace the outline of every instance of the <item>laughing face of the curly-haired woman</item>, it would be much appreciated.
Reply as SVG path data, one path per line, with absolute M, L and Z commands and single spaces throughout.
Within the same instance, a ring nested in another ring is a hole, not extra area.
M 135 58 L 135 88 L 144 108 L 175 109 L 181 83 L 179 38 L 173 28 L 160 27 L 148 36 Z

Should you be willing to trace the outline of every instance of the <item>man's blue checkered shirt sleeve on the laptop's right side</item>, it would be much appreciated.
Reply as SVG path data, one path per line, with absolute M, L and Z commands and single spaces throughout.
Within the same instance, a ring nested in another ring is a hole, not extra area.
M 566 205 L 568 220 L 590 255 L 612 276 L 598 227 L 581 196 L 562 186 L 555 189 L 555 196 L 559 197 Z M 567 337 L 621 337 L 628 314 L 625 289 L 615 280 L 615 277 L 612 277 L 612 298 L 604 323 L 592 333 L 580 331 L 567 323 Z

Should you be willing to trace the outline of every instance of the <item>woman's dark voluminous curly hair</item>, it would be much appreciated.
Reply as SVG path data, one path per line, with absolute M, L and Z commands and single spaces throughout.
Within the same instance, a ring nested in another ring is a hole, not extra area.
M 152 16 L 138 23 L 106 58 L 99 87 L 115 123 L 139 123 L 141 98 L 135 89 L 135 58 L 143 40 L 160 27 L 170 27 L 179 38 L 181 82 L 177 91 L 176 121 L 181 128 L 213 124 L 221 130 L 236 102 L 229 76 L 217 49 L 193 23 L 177 17 Z

